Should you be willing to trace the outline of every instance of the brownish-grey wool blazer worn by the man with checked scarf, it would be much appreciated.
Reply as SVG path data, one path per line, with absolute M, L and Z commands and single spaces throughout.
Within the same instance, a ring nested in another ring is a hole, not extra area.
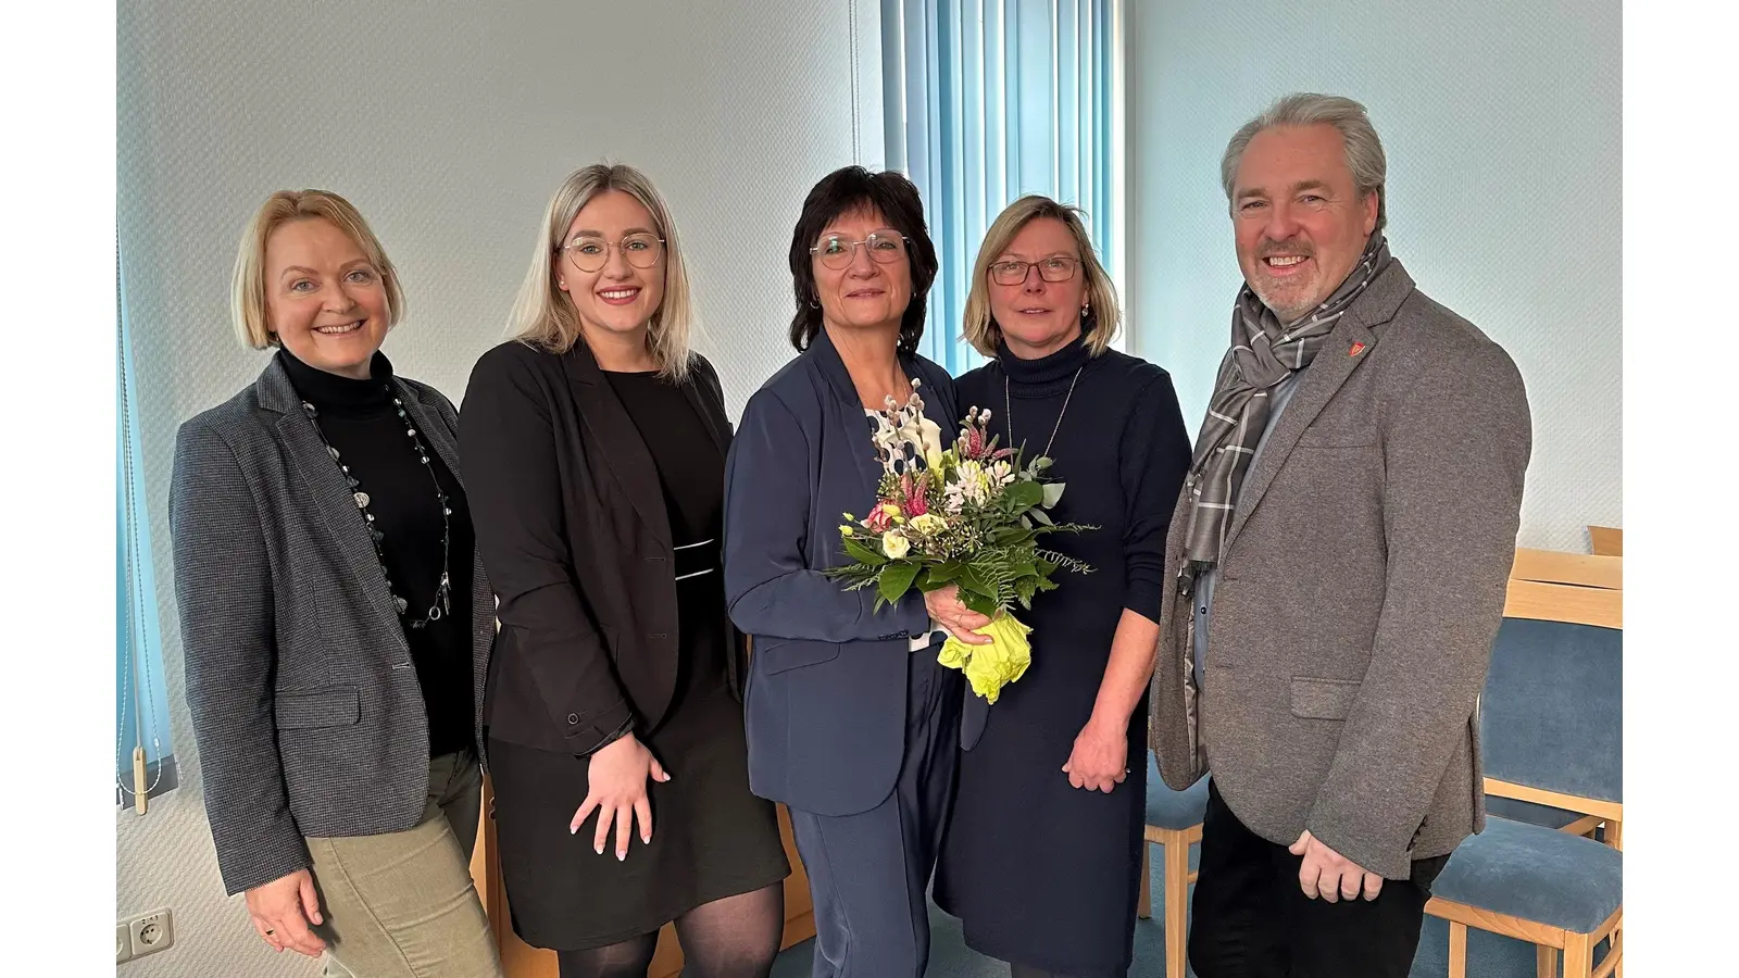
M 1476 707 L 1530 452 L 1509 355 L 1391 263 L 1245 477 L 1202 689 L 1191 606 L 1165 588 L 1149 713 L 1165 783 L 1212 773 L 1257 835 L 1290 846 L 1308 828 L 1386 879 L 1482 830 Z

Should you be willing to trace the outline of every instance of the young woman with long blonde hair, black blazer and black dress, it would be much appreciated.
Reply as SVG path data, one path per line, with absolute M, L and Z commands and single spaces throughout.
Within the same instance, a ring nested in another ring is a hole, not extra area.
M 730 423 L 689 320 L 652 183 L 584 167 L 464 399 L 501 599 L 483 705 L 501 867 L 515 933 L 562 978 L 643 978 L 671 921 L 683 975 L 765 978 L 784 929 L 790 863 L 750 794 L 718 574 Z

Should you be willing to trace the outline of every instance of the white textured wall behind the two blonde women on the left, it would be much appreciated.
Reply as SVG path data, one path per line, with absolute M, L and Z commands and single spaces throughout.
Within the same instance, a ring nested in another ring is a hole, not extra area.
M 605 155 L 631 162 L 675 212 L 704 318 L 697 346 L 736 412 L 790 357 L 784 254 L 803 193 L 854 150 L 880 160 L 876 7 L 139 0 L 118 17 L 117 209 L 183 783 L 144 818 L 117 814 L 117 915 L 170 907 L 177 941 L 122 975 L 313 975 L 223 896 L 170 583 L 176 426 L 266 362 L 230 339 L 242 224 L 273 190 L 350 197 L 407 291 L 388 355 L 459 402 L 501 338 L 550 193 Z M 857 134 L 854 23 L 871 35 L 856 49 Z

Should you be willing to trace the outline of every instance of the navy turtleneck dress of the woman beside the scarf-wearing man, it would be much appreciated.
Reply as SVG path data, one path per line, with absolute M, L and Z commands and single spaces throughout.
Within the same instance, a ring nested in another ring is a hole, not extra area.
M 1005 445 L 1012 411 L 1026 459 L 1045 451 L 1068 400 L 1050 449 L 1050 477 L 1068 486 L 1052 515 L 1099 529 L 1043 538 L 1094 569 L 1059 573 L 1057 590 L 1016 613 L 1033 628 L 1033 663 L 1002 689 L 960 757 L 936 903 L 960 917 L 979 954 L 1076 978 L 1122 976 L 1141 893 L 1148 698 L 1129 720 L 1122 785 L 1075 788 L 1063 764 L 1092 715 L 1123 609 L 1158 621 L 1189 435 L 1165 371 L 1115 350 L 1089 357 L 1080 341 L 1040 360 L 1003 348 L 956 390 L 960 404 L 991 409 L 991 433 Z

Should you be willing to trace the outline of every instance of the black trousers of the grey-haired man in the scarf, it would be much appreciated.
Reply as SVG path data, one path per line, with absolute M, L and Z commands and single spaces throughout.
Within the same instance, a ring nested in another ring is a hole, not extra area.
M 1416 860 L 1412 879 L 1383 881 L 1376 900 L 1311 900 L 1303 856 L 1245 828 L 1210 780 L 1189 968 L 1196 978 L 1405 978 L 1447 861 Z

